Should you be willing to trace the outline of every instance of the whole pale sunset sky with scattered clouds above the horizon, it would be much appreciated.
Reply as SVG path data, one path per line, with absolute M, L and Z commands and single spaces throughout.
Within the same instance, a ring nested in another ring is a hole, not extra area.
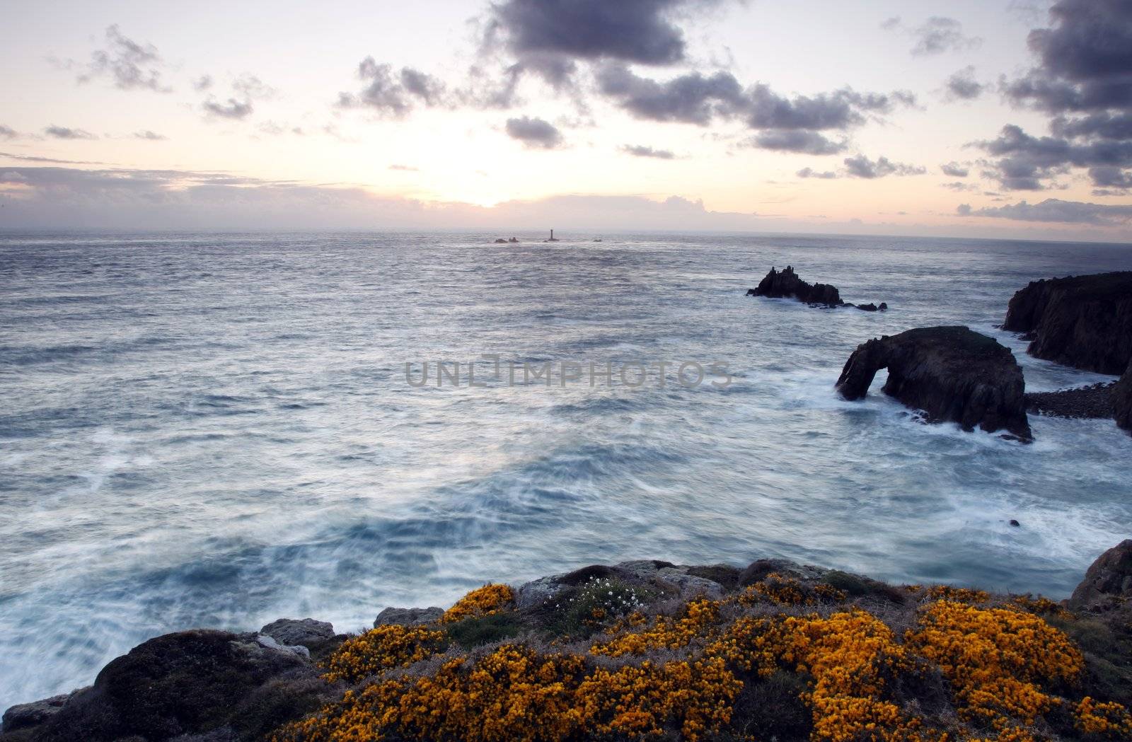
M 0 11 L 0 230 L 1132 241 L 1130 0 Z

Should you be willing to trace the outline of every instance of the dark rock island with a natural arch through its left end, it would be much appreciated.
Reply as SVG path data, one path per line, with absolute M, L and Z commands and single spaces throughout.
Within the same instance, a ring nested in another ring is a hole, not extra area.
M 859 345 L 838 379 L 846 399 L 860 399 L 881 369 L 884 392 L 963 430 L 1005 430 L 1030 440 L 1022 369 L 1009 348 L 967 327 L 921 327 Z

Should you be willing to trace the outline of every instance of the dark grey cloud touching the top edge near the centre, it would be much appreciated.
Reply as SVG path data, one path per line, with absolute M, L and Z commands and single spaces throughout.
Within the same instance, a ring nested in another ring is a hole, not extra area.
M 717 0 L 505 0 L 491 6 L 488 36 L 521 60 L 529 54 L 672 64 L 685 58 L 677 11 Z

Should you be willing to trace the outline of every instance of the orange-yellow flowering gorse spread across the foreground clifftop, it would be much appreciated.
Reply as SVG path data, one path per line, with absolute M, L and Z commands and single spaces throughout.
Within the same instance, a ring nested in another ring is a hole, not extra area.
M 769 576 L 727 599 L 691 601 L 675 615 L 632 613 L 612 622 L 589 652 L 507 644 L 423 672 L 391 671 L 443 652 L 445 632 L 381 627 L 346 641 L 327 662 L 327 679 L 376 676 L 371 684 L 284 727 L 275 740 L 571 742 L 674 732 L 704 740 L 739 733 L 728 725 L 745 682 L 786 671 L 806 682 L 800 698 L 809 707 L 814 742 L 1032 742 L 1028 727 L 1065 702 L 1050 687 L 1072 681 L 1083 666 L 1064 633 L 1028 612 L 1054 612 L 1052 605 L 1032 598 L 1005 607 L 972 605 L 989 595 L 951 587 L 926 594 L 938 599 L 920 606 L 915 628 L 900 637 L 860 609 L 767 614 L 767 602 L 795 606 L 835 598 Z M 509 588 L 488 585 L 440 621 L 490 615 L 513 602 Z M 655 658 L 664 653 L 675 654 Z M 901 679 L 936 671 L 951 688 L 958 722 L 925 717 L 898 692 Z M 1086 698 L 1073 713 L 1082 733 L 1132 737 L 1132 717 L 1120 704 Z

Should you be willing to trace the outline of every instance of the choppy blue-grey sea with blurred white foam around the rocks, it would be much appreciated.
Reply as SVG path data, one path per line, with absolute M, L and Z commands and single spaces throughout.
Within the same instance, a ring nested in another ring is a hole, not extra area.
M 499 236 L 0 234 L 0 708 L 170 631 L 359 631 L 592 563 L 1062 598 L 1132 535 L 1112 421 L 1031 416 L 1023 445 L 925 424 L 884 372 L 834 391 L 858 344 L 934 325 L 998 339 L 1031 391 L 1112 380 L 997 326 L 1130 245 Z M 786 265 L 889 310 L 745 295 Z

